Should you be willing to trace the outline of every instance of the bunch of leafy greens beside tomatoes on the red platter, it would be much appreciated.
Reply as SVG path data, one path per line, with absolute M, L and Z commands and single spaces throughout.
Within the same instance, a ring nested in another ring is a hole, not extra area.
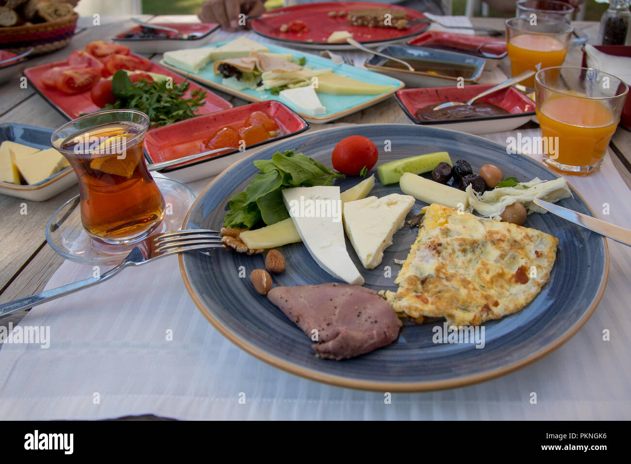
M 172 85 L 171 85 L 172 84 Z M 191 98 L 184 98 L 189 82 L 175 83 L 163 80 L 139 80 L 132 83 L 125 71 L 116 71 L 112 76 L 112 93 L 116 97 L 113 105 L 105 109 L 134 109 L 149 116 L 151 126 L 166 126 L 195 116 L 194 111 L 204 104 L 206 92 L 198 88 Z

